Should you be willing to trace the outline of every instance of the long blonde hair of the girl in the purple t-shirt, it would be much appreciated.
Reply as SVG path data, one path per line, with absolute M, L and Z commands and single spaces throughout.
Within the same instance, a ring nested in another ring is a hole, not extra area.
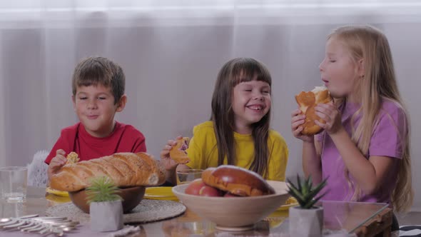
M 352 141 L 357 144 L 362 154 L 368 152 L 372 132 L 379 120 L 377 115 L 382 101 L 393 101 L 405 113 L 405 136 L 400 139 L 403 153 L 399 161 L 396 186 L 391 197 L 395 210 L 405 211 L 412 205 L 414 196 L 410 166 L 410 123 L 397 89 L 395 69 L 387 38 L 380 30 L 372 26 L 342 26 L 335 29 L 328 39 L 333 37 L 348 46 L 355 63 L 364 59 L 364 79 L 358 80 L 360 82 L 356 87 L 357 90 L 359 89 L 358 96 L 361 98 L 362 106 L 351 119 L 352 125 L 353 118 L 357 114 L 362 114 L 357 128 L 352 128 Z M 355 196 L 356 199 L 360 196 L 360 188 L 357 186 L 353 198 Z

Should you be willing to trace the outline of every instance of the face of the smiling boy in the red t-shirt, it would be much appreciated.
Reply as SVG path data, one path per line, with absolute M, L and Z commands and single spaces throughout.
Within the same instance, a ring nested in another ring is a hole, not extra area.
M 86 131 L 94 137 L 106 137 L 114 126 L 114 115 L 126 105 L 123 95 L 114 103 L 114 96 L 109 87 L 102 85 L 79 86 L 76 95 L 72 96 L 73 108 Z

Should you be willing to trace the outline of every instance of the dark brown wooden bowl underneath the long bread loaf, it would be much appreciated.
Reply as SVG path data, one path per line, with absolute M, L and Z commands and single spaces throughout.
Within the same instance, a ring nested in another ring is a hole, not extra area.
M 142 201 L 143 195 L 145 195 L 144 186 L 121 188 L 117 193 L 123 198 L 123 213 L 128 213 L 133 210 Z M 89 204 L 86 201 L 86 190 L 69 192 L 69 197 L 73 204 L 80 208 L 83 212 L 89 213 Z

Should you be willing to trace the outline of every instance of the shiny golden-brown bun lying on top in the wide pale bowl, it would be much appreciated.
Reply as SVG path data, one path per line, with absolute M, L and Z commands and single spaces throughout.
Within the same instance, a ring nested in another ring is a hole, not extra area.
M 206 185 L 228 191 L 237 196 L 262 196 L 275 193 L 275 190 L 262 176 L 238 166 L 223 165 L 207 168 L 202 173 Z

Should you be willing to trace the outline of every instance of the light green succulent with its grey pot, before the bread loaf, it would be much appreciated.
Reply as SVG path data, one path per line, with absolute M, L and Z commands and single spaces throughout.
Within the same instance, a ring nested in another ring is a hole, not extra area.
M 105 176 L 94 178 L 86 188 L 91 229 L 93 231 L 117 231 L 123 228 L 123 206 L 118 187 Z

